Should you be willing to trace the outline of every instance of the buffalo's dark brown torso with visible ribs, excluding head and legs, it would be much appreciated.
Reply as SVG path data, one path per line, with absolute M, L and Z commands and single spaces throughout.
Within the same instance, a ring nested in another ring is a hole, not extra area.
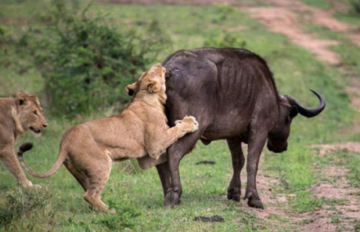
M 166 68 L 170 124 L 184 115 L 193 115 L 204 140 L 241 134 L 246 137 L 258 104 L 265 111 L 276 108 L 271 72 L 261 57 L 248 50 L 180 50 L 162 65 Z

